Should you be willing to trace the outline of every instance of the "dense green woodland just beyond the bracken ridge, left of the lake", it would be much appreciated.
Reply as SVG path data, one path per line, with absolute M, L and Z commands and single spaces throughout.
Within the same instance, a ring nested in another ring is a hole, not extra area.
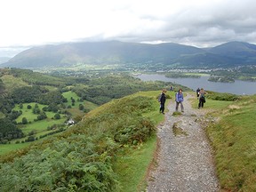
M 87 87 L 73 87 L 72 91 L 83 100 L 102 105 L 110 100 L 119 99 L 134 92 L 161 90 L 167 83 L 143 83 L 132 76 L 105 76 L 91 79 Z

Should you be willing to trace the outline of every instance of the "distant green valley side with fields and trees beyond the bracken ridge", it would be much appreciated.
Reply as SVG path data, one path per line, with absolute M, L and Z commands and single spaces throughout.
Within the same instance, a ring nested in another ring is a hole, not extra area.
M 0 154 L 18 148 L 15 145 L 20 142 L 62 132 L 69 120 L 76 124 L 90 110 L 110 100 L 169 86 L 163 82 L 144 83 L 122 74 L 63 77 L 18 68 L 0 72 L 0 149 L 1 144 L 10 147 L 0 150 Z

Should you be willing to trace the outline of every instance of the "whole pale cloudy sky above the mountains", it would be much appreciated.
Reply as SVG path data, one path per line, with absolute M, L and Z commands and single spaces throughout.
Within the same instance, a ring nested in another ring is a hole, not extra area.
M 256 44 L 255 9 L 255 0 L 6 0 L 0 48 L 108 40 Z

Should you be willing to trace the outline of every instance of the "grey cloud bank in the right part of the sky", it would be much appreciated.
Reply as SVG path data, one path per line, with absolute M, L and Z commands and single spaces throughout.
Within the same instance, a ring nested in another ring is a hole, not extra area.
M 125 39 L 186 44 L 222 44 L 228 41 L 256 43 L 256 1 L 221 1 L 207 7 L 192 7 L 164 18 L 164 27 Z M 145 18 L 145 16 L 144 16 Z M 150 20 L 159 20 L 148 16 Z M 122 39 L 122 36 L 119 36 Z

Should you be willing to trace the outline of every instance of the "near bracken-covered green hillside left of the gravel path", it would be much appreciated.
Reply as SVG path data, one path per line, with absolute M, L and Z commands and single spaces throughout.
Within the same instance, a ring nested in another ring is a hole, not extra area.
M 113 100 L 88 113 L 66 132 L 2 156 L 1 172 L 5 174 L 0 176 L 1 191 L 123 191 L 126 186 L 120 177 L 124 181 L 125 171 L 130 178 L 130 165 L 140 179 L 130 186 L 130 191 L 136 190 L 156 146 L 154 122 L 159 118 L 155 121 L 146 116 L 155 113 L 164 118 L 156 110 L 158 93 Z M 133 161 L 124 160 L 130 157 Z M 142 159 L 147 159 L 145 164 L 139 164 Z M 134 164 L 136 161 L 138 164 Z

